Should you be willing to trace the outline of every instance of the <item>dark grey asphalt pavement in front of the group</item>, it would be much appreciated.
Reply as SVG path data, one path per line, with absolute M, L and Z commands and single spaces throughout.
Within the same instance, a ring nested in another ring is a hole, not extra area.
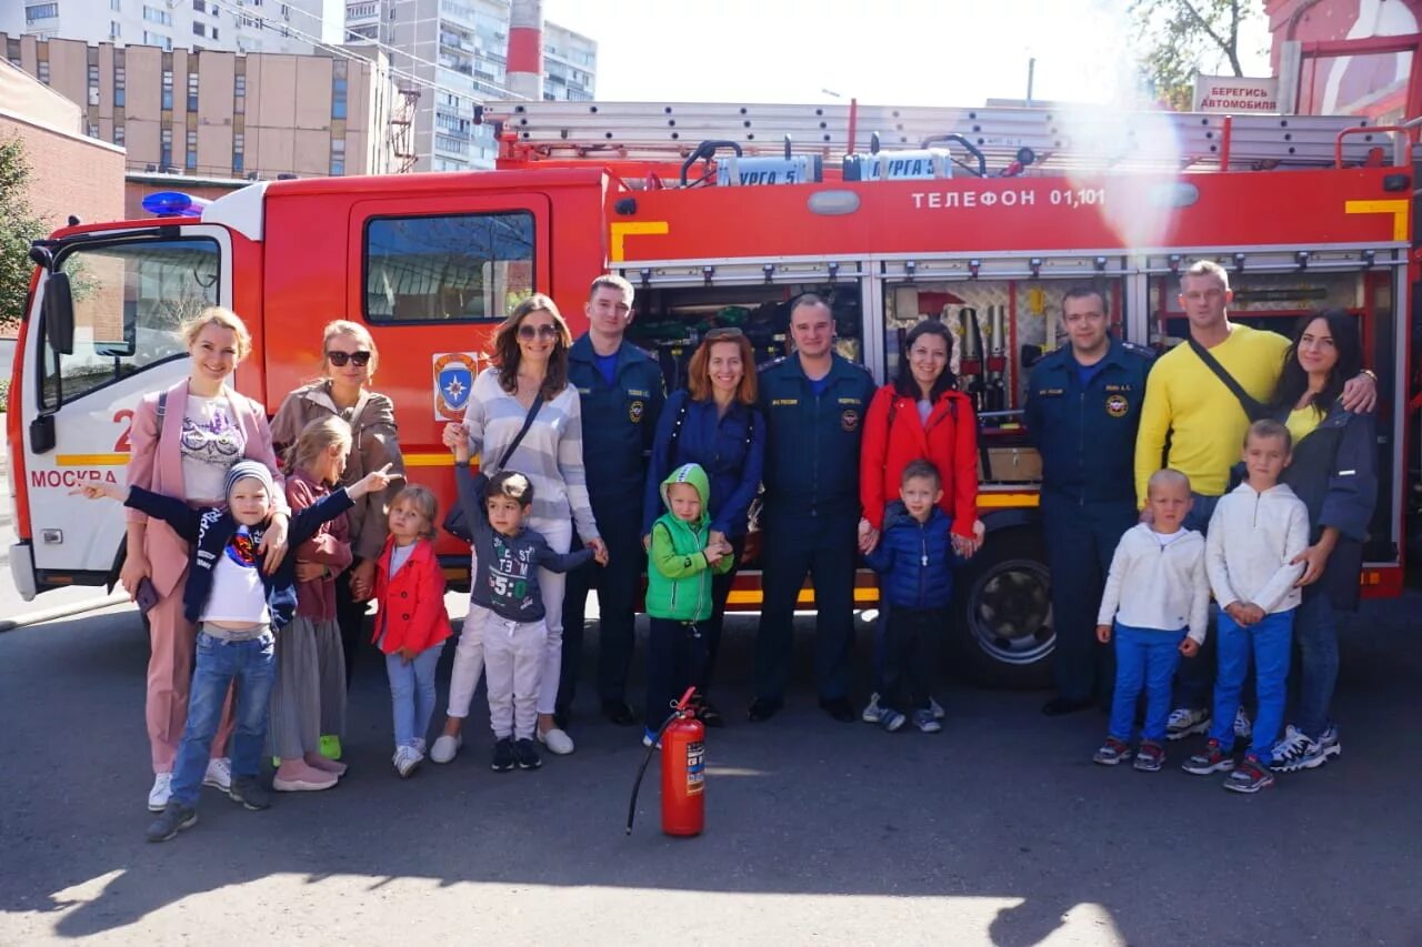
M 1180 772 L 1193 741 L 1159 774 L 1095 766 L 1105 717 L 1047 719 L 1041 694 L 950 681 L 939 735 L 836 724 L 803 620 L 789 707 L 748 724 L 737 619 L 697 839 L 660 833 L 656 762 L 624 835 L 640 734 L 586 678 L 574 755 L 491 772 L 476 700 L 461 756 L 401 781 L 367 653 L 337 789 L 257 813 L 205 791 L 149 845 L 137 614 L 26 627 L 0 634 L 0 944 L 1422 944 L 1419 606 L 1349 624 L 1344 755 L 1250 798 Z M 860 668 L 867 644 L 860 626 Z

